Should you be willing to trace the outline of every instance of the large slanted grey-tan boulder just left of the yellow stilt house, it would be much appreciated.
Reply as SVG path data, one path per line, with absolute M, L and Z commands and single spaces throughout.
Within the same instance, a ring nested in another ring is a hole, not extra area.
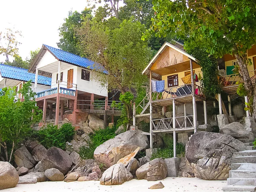
M 99 145 L 94 151 L 94 158 L 98 163 L 105 164 L 105 168 L 117 163 L 119 159 L 131 154 L 135 149 L 148 148 L 148 138 L 143 131 L 125 131 L 111 140 Z

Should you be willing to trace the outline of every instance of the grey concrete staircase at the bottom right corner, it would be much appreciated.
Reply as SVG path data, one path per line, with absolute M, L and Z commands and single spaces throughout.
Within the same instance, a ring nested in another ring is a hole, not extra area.
M 232 157 L 231 170 L 227 178 L 227 186 L 223 191 L 256 191 L 256 148 L 254 140 L 240 139 L 246 150 L 235 152 Z

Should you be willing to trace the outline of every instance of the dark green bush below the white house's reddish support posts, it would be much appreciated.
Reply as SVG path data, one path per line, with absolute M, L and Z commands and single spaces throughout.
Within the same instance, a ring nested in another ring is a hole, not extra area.
M 35 137 L 45 148 L 58 147 L 66 148 L 66 142 L 72 140 L 75 128 L 70 123 L 63 124 L 60 128 L 57 125 L 47 124 L 35 132 Z

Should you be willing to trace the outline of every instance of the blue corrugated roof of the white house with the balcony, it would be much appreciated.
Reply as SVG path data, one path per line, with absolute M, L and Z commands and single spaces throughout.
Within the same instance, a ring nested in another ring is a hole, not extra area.
M 79 55 L 75 55 L 73 53 L 63 51 L 61 49 L 56 49 L 56 48 L 50 47 L 48 45 L 44 45 L 44 46 L 47 47 L 47 49 L 49 49 L 49 51 L 52 52 L 52 54 L 55 55 L 55 57 L 61 61 L 64 61 L 64 62 L 70 63 L 70 64 L 74 64 L 79 67 L 84 67 L 87 69 L 97 70 L 97 71 L 101 71 L 103 73 L 108 73 L 102 65 L 97 64 L 88 58 L 81 57 Z

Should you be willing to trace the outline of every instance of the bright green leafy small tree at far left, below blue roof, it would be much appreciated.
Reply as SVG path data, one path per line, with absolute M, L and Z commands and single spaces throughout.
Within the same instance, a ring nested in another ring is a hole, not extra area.
M 35 105 L 31 81 L 23 84 L 19 91 L 23 95 L 23 102 L 15 100 L 15 90 L 16 87 L 5 87 L 0 92 L 0 150 L 3 147 L 5 160 L 9 162 L 12 161 L 15 146 L 31 133 L 32 124 L 42 118 L 42 111 Z M 1 152 L 0 158 L 4 160 Z

